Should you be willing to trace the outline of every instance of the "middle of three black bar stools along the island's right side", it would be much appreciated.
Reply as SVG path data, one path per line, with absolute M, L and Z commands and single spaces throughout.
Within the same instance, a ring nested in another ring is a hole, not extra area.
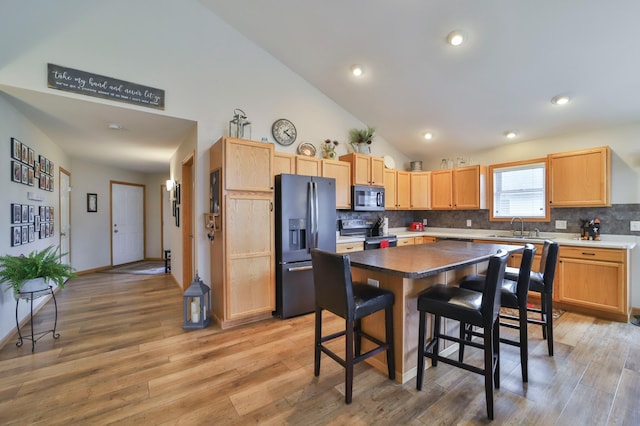
M 518 329 L 519 340 L 500 338 L 500 342 L 506 343 L 520 348 L 520 368 L 522 370 L 522 381 L 529 381 L 528 364 L 529 364 L 529 345 L 527 336 L 527 295 L 529 293 L 529 280 L 531 277 L 531 265 L 533 264 L 533 256 L 536 247 L 533 244 L 525 245 L 520 262 L 520 271 L 517 281 L 505 278 L 499 286 L 500 305 L 506 308 L 518 310 L 518 315 L 500 314 L 501 319 L 509 321 L 517 321 L 517 323 L 500 321 L 503 327 Z M 505 273 L 506 276 L 506 273 Z M 473 274 L 465 277 L 460 283 L 461 288 L 482 292 L 486 277 L 480 274 Z M 482 336 L 480 333 L 473 331 L 473 327 L 469 324 L 460 325 L 460 338 L 471 340 L 472 336 Z M 458 351 L 458 360 L 463 361 L 464 343 L 460 344 Z

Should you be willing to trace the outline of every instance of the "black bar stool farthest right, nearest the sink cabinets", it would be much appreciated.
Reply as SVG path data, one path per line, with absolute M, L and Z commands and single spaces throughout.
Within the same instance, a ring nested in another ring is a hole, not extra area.
M 540 314 L 540 319 L 527 318 L 529 324 L 542 327 L 542 338 L 547 340 L 549 356 L 553 356 L 553 280 L 558 263 L 560 246 L 551 240 L 545 240 L 540 257 L 540 272 L 531 272 L 529 291 L 540 293 L 540 308 L 527 307 L 527 311 Z M 507 267 L 505 278 L 517 280 L 518 268 Z

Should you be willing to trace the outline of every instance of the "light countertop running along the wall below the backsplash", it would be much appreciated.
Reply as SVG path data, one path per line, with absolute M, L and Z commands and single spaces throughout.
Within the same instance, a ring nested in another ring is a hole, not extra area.
M 464 229 L 464 228 L 427 228 L 424 231 L 410 231 L 407 228 L 391 228 L 390 235 L 398 238 L 428 236 L 442 239 L 454 240 L 495 240 L 496 242 L 522 242 L 522 243 L 541 243 L 545 239 L 553 240 L 560 245 L 576 246 L 576 247 L 594 247 L 594 248 L 616 248 L 631 250 L 636 246 L 636 237 L 634 235 L 614 235 L 602 234 L 600 241 L 581 240 L 578 234 L 560 233 L 560 232 L 541 232 L 539 237 L 535 238 L 514 238 L 510 231 L 496 231 L 492 229 Z M 351 243 L 364 241 L 362 237 L 338 237 L 337 243 Z

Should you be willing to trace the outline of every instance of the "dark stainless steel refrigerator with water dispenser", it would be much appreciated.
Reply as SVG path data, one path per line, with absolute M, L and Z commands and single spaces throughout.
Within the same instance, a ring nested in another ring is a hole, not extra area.
M 311 249 L 336 250 L 336 181 L 276 176 L 276 315 L 315 309 Z

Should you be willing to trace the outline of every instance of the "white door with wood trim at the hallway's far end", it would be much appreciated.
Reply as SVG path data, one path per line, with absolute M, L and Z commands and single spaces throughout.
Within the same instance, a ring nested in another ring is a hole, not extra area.
M 113 265 L 144 259 L 144 187 L 111 184 Z

